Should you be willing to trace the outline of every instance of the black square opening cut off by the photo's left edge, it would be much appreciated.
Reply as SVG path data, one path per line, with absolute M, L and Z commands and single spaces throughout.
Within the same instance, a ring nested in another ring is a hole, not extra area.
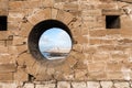
M 0 31 L 7 31 L 7 15 L 0 15 Z

